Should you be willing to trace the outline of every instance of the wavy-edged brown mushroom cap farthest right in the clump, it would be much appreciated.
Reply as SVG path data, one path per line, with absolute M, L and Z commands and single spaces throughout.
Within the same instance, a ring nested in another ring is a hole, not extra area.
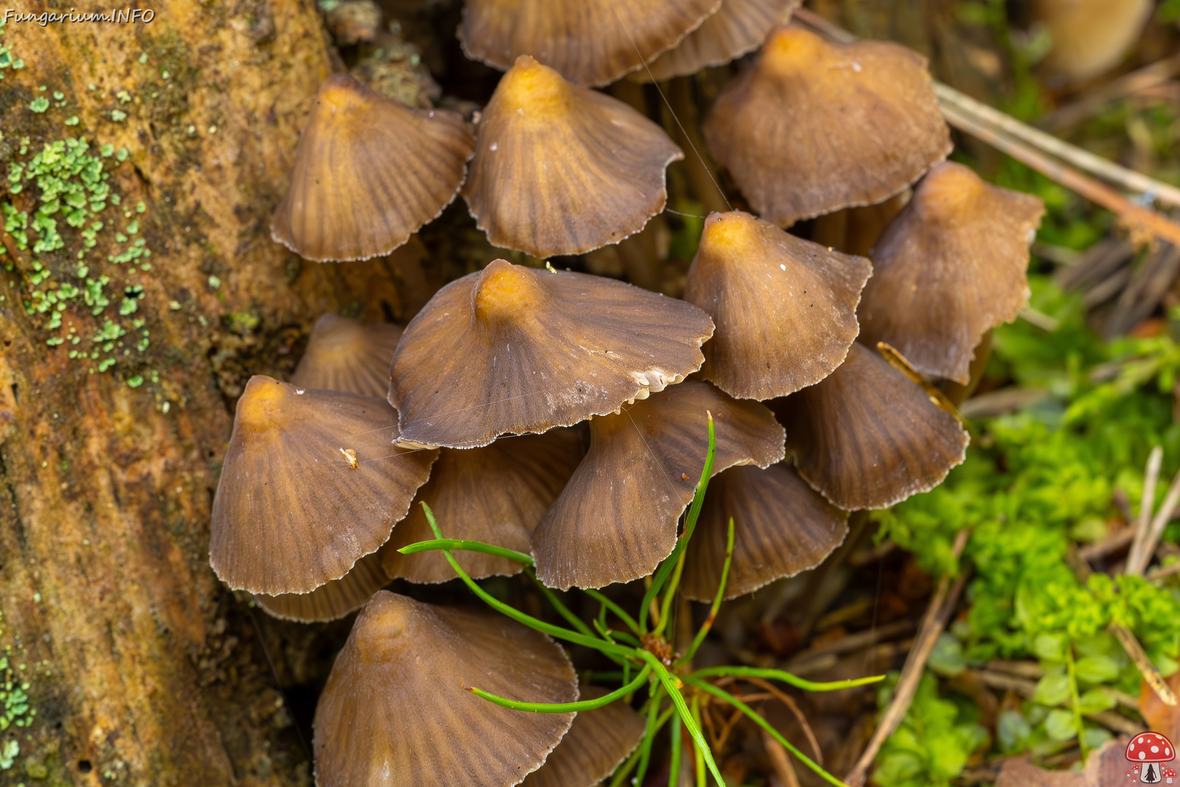
M 923 374 L 966 385 L 983 334 L 1028 303 L 1024 271 L 1042 215 L 1037 197 L 962 164 L 930 170 L 870 253 L 861 341 L 887 342 Z

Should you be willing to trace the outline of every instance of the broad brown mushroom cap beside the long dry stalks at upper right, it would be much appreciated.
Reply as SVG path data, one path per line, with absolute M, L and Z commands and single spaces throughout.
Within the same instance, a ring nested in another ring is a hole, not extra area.
M 771 35 L 703 131 L 754 210 L 781 227 L 880 202 L 951 152 L 925 58 L 799 27 Z

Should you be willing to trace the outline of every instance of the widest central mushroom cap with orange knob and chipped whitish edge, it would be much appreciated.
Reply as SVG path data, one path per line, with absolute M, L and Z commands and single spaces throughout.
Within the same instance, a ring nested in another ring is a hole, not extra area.
M 618 409 L 701 368 L 713 322 L 611 278 L 496 260 L 440 289 L 398 345 L 401 434 L 467 448 Z

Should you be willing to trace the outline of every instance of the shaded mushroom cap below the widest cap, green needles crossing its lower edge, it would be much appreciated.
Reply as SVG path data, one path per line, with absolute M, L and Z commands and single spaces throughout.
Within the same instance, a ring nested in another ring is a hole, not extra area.
M 529 537 L 582 460 L 582 438 L 572 429 L 502 438 L 483 448 L 442 448 L 431 480 L 418 490 L 409 514 L 393 530 L 385 569 L 411 582 L 454 579 L 441 552 L 396 550 L 434 538 L 419 503 L 426 503 L 447 538 L 465 538 L 529 553 Z M 480 552 L 454 552 L 473 578 L 512 575 L 522 565 Z

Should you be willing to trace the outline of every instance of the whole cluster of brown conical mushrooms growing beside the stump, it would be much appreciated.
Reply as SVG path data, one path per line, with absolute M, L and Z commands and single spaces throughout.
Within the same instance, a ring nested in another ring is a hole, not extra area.
M 569 4 L 467 0 L 465 52 L 506 70 L 474 135 L 343 73 L 320 88 L 276 241 L 316 261 L 386 255 L 461 194 L 492 244 L 546 258 L 640 231 L 683 156 L 592 87 L 761 46 L 703 123 L 758 216 L 708 216 L 683 300 L 497 260 L 405 330 L 322 316 L 290 382 L 245 387 L 214 570 L 283 618 L 363 606 L 315 715 L 320 787 L 586 787 L 643 733 L 622 701 L 575 719 L 464 689 L 603 694 L 544 634 L 381 590 L 455 576 L 437 551 L 398 551 L 433 538 L 419 504 L 447 538 L 531 553 L 551 588 L 642 578 L 676 543 L 712 413 L 716 478 L 681 584 L 703 601 L 729 517 L 734 597 L 813 568 L 850 511 L 930 490 L 963 460 L 968 433 L 932 383 L 965 386 L 988 332 L 1027 302 L 1042 205 L 944 160 L 923 58 L 826 41 L 786 24 L 792 5 L 585 0 L 568 18 Z M 885 201 L 896 215 L 867 258 L 784 229 Z M 474 578 L 522 569 L 455 557 Z

